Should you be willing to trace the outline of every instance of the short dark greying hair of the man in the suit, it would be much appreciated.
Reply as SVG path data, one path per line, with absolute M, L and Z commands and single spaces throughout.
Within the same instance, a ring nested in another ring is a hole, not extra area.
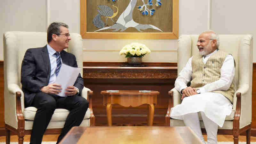
M 53 22 L 47 29 L 47 42 L 50 43 L 52 41 L 52 34 L 59 35 L 61 33 L 60 26 L 68 28 L 68 25 L 62 22 Z

